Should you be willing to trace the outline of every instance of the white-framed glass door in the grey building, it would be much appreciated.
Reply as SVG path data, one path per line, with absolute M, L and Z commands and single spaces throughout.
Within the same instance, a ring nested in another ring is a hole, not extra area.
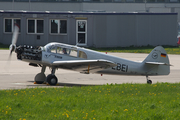
M 76 20 L 76 44 L 87 45 L 87 20 Z

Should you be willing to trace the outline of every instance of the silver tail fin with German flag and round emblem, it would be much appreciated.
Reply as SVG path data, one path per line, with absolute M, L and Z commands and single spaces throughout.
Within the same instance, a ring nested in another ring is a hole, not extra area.
M 170 73 L 169 58 L 162 46 L 155 47 L 143 63 L 151 68 L 147 74 L 168 75 Z

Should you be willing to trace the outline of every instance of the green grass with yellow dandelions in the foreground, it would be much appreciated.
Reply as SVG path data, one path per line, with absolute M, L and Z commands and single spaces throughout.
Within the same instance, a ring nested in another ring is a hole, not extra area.
M 180 83 L 0 91 L 1 120 L 179 120 Z

